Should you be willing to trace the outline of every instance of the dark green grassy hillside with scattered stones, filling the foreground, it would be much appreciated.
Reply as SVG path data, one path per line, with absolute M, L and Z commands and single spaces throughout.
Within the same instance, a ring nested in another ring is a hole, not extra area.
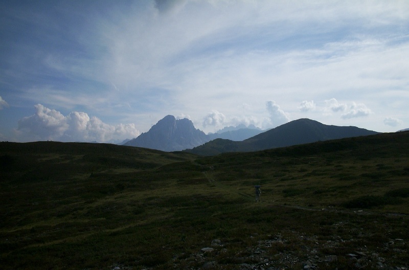
M 409 132 L 212 157 L 0 143 L 0 261 L 4 269 L 409 267 L 408 160 Z

